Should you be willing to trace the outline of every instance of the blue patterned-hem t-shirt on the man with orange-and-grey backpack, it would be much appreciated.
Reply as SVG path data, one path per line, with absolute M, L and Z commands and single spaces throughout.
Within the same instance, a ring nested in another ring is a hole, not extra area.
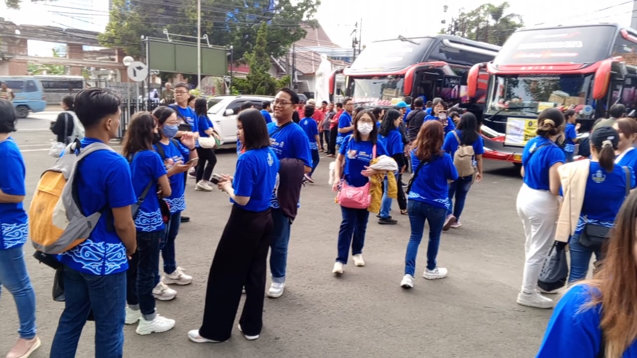
M 84 138 L 82 147 L 99 140 Z M 61 255 L 59 260 L 82 273 L 111 275 L 128 269 L 126 248 L 117 232 L 108 224 L 113 220 L 111 208 L 137 202 L 131 181 L 131 168 L 122 155 L 98 150 L 78 164 L 77 189 L 84 215 L 106 208 L 89 238 Z

